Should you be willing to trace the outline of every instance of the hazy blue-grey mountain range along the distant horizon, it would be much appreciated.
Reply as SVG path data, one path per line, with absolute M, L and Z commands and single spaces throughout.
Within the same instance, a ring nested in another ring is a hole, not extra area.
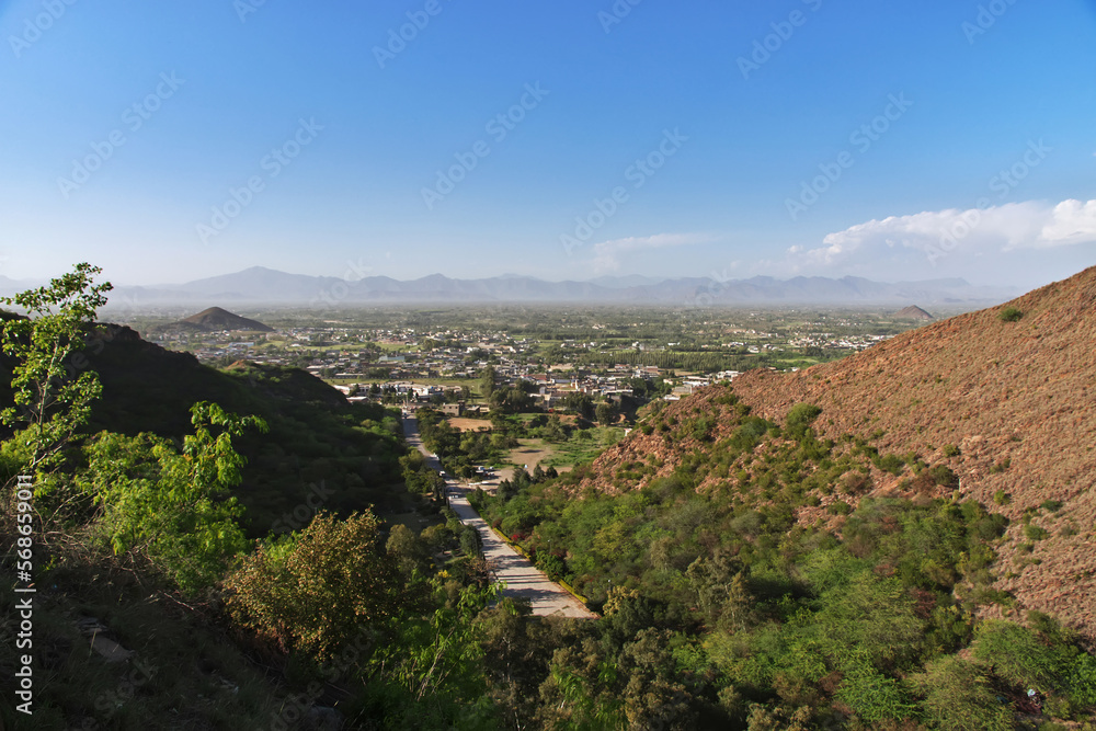
M 116 287 L 115 301 L 132 307 L 163 304 L 296 305 L 315 308 L 391 302 L 591 302 L 649 304 L 671 307 L 720 307 L 809 304 L 897 305 L 910 301 L 937 305 L 998 304 L 1018 294 L 1013 288 L 979 287 L 964 279 L 872 282 L 860 277 L 795 277 L 719 282 L 711 277 L 653 279 L 641 276 L 601 277 L 590 282 L 546 282 L 504 275 L 483 279 L 454 279 L 433 274 L 399 281 L 368 276 L 356 281 L 287 274 L 253 266 L 180 285 Z

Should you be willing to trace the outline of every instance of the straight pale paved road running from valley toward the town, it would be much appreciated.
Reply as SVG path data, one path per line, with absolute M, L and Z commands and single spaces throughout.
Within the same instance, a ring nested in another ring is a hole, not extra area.
M 442 465 L 422 445 L 422 441 L 419 438 L 419 423 L 413 416 L 403 419 L 403 436 L 409 445 L 416 447 L 422 453 L 432 468 L 441 471 Z M 503 594 L 527 598 L 533 605 L 533 614 L 539 617 L 561 615 L 592 619 L 597 616 L 586 609 L 582 602 L 571 596 L 562 586 L 550 581 L 528 559 L 507 546 L 468 502 L 469 488 L 459 484 L 448 476 L 445 483 L 449 491 L 449 507 L 457 514 L 461 523 L 470 525 L 479 532 L 483 544 L 483 557 L 487 559 L 495 581 L 506 584 Z

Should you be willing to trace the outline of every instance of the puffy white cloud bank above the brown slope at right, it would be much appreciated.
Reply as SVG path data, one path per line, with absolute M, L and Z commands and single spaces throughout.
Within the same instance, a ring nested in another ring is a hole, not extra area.
M 857 224 L 827 235 L 822 247 L 789 250 L 799 265 L 825 266 L 901 249 L 924 252 L 935 261 L 952 251 L 970 255 L 1021 249 L 1055 249 L 1096 242 L 1096 201 L 1057 205 L 1029 201 L 984 209 L 923 212 Z

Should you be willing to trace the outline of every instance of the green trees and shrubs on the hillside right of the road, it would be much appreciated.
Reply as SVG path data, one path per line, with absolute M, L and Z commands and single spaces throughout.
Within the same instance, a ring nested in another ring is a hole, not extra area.
M 541 697 L 572 709 L 568 722 L 1011 729 L 1035 703 L 1028 688 L 1052 716 L 1091 718 L 1096 659 L 1078 638 L 1037 613 L 1027 626 L 975 619 L 986 604 L 1012 606 L 991 586 L 1004 516 L 928 496 L 955 476 L 917 460 L 910 484 L 923 496 L 857 499 L 863 483 L 848 476 L 890 459 L 856 439 L 820 442 L 817 407 L 795 407 L 778 426 L 721 398 L 732 436 L 672 476 L 650 477 L 652 458 L 478 500 L 605 614 L 536 678 Z M 664 424 L 673 443 L 711 430 Z M 698 491 L 712 475 L 726 478 Z M 619 494 L 583 488 L 609 479 Z M 838 517 L 797 519 L 820 500 Z M 651 664 L 637 663 L 639 647 Z M 571 678 L 581 695 L 568 696 Z M 630 687 L 647 689 L 639 706 Z

